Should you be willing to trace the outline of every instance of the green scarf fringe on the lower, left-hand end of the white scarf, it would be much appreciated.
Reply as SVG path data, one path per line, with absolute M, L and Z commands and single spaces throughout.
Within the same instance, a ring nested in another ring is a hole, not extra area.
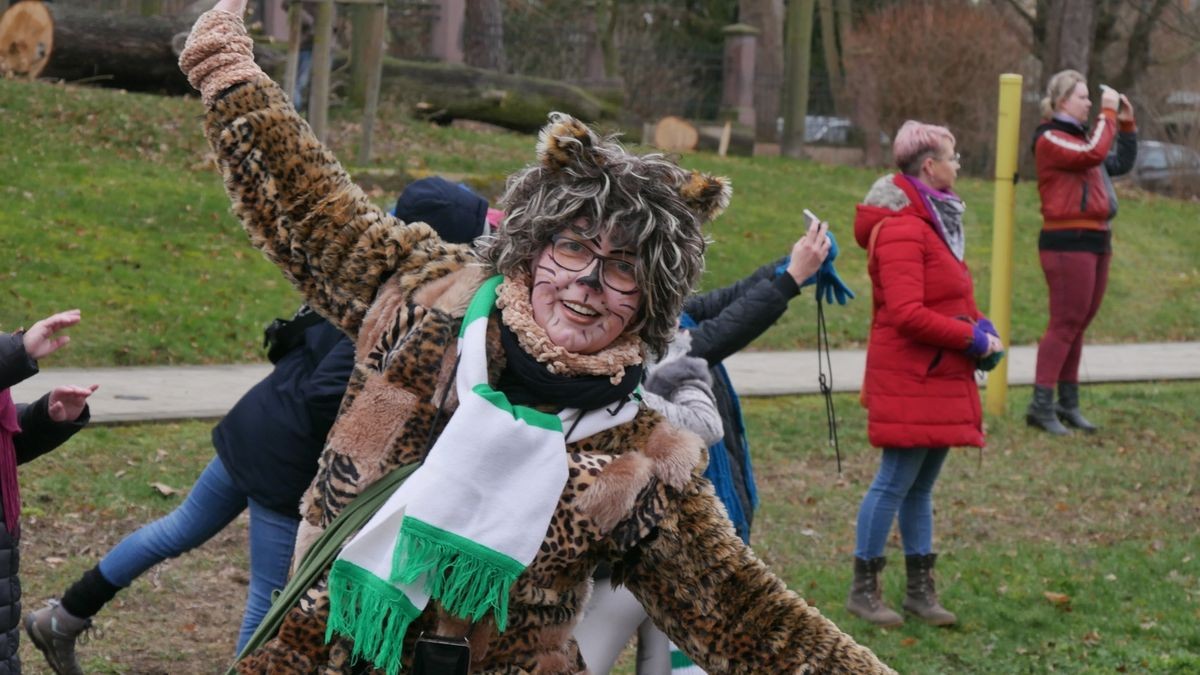
M 329 571 L 329 622 L 325 641 L 334 633 L 354 641 L 353 656 L 366 658 L 388 675 L 400 673 L 404 635 L 421 610 L 403 591 L 344 560 Z

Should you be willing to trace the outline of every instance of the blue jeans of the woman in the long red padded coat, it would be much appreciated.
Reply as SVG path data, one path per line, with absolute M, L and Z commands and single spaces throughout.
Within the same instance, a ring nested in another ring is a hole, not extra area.
M 949 448 L 883 448 L 880 472 L 858 509 L 856 557 L 883 555 L 898 513 L 905 555 L 934 551 L 934 483 L 947 454 Z

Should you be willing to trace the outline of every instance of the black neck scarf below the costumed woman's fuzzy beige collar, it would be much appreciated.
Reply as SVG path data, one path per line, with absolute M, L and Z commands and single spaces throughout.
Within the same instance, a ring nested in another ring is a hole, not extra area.
M 504 322 L 500 322 L 500 344 L 506 365 L 497 389 L 514 405 L 596 410 L 623 402 L 642 381 L 642 364 L 625 366 L 618 384 L 610 382 L 607 375 L 554 375 L 521 348 L 516 334 Z

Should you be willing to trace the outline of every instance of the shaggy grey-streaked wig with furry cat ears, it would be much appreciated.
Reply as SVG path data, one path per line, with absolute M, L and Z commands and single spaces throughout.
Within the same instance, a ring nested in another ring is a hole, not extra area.
M 664 353 L 704 269 L 701 226 L 728 205 L 728 180 L 660 154 L 634 155 L 563 113 L 541 130 L 538 159 L 509 177 L 499 201 L 504 225 L 481 243 L 484 263 L 505 275 L 528 270 L 551 237 L 582 217 L 584 237 L 608 234 L 613 245 L 638 251 L 642 303 L 629 329 Z

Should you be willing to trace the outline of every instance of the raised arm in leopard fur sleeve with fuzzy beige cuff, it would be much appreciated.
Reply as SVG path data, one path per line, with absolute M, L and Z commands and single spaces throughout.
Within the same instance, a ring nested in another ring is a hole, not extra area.
M 350 335 L 379 286 L 395 274 L 415 282 L 467 259 L 425 225 L 377 208 L 313 136 L 280 86 L 253 61 L 240 10 L 223 0 L 200 16 L 180 67 L 208 108 L 205 135 L 233 210 L 251 241 L 305 300 Z

